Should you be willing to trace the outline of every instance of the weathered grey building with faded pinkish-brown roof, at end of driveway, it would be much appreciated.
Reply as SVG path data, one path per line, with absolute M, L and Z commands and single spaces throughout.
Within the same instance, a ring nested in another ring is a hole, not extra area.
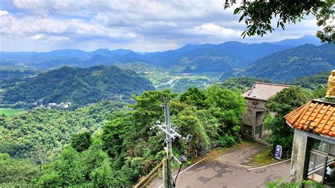
M 269 133 L 269 130 L 264 129 L 263 126 L 266 101 L 289 87 L 283 84 L 255 82 L 252 88 L 242 94 L 247 100 L 247 111 L 241 127 L 244 139 L 262 142 L 262 139 Z

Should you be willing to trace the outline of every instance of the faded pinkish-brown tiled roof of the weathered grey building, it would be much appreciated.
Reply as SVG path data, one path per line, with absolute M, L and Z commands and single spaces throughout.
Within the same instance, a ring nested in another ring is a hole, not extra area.
M 254 86 L 252 86 L 251 89 L 243 93 L 242 96 L 249 99 L 266 101 L 272 96 L 276 95 L 281 90 L 283 90 L 284 88 L 289 87 L 290 86 L 288 85 L 277 84 L 277 83 L 255 82 Z

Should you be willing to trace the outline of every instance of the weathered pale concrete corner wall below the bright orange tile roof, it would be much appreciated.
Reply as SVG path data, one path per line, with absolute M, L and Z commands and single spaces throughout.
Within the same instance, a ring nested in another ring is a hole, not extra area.
M 290 180 L 297 182 L 303 180 L 304 166 L 307 149 L 307 133 L 305 131 L 294 130 L 292 160 L 290 163 Z

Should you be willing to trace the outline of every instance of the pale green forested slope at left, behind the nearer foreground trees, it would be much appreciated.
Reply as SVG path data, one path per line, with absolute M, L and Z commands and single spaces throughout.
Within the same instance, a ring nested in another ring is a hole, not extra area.
M 110 114 L 125 105 L 125 102 L 104 101 L 74 111 L 36 109 L 0 117 L 0 153 L 29 158 L 42 152 L 44 160 L 50 160 L 71 141 L 73 134 L 101 131 Z

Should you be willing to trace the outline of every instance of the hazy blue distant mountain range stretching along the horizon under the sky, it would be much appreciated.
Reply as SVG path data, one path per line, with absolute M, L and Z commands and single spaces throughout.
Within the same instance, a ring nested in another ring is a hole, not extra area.
M 147 53 L 133 52 L 129 49 L 98 49 L 93 52 L 78 49 L 52 52 L 0 52 L 0 65 L 54 69 L 61 66 L 89 67 L 142 62 L 180 73 L 223 74 L 247 66 L 269 54 L 305 43 L 317 44 L 317 39 L 305 35 L 299 39 L 261 44 L 242 42 L 225 42 L 219 45 L 188 44 L 179 49 Z

